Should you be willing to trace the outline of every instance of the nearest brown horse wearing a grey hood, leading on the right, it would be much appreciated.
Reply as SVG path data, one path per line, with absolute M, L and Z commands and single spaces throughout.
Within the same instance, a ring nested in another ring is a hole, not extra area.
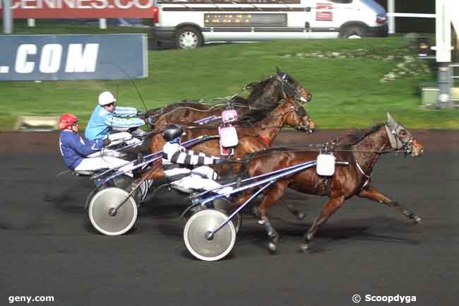
M 345 161 L 349 165 L 337 166 L 335 174 L 331 177 L 321 177 L 317 175 L 316 168 L 311 167 L 294 175 L 282 177 L 266 189 L 256 214 L 260 223 L 265 225 L 268 237 L 270 237 L 271 242 L 268 245 L 270 251 L 275 252 L 277 249 L 276 244 L 279 235 L 270 224 L 267 211 L 272 204 L 275 204 L 282 197 L 287 187 L 305 194 L 316 194 L 329 198 L 323 206 L 321 214 L 304 236 L 304 243 L 301 245 L 302 252 L 306 252 L 310 248 L 311 240 L 318 227 L 323 225 L 346 199 L 350 199 L 354 195 L 396 208 L 415 223 L 422 221 L 415 213 L 382 194 L 370 184 L 373 167 L 379 155 L 388 153 L 387 150 L 392 148 L 393 150 L 404 151 L 414 157 L 422 155 L 424 152 L 422 144 L 405 127 L 395 122 L 390 114 L 388 114 L 388 121 L 385 124 L 357 130 L 357 132 L 340 137 L 334 142 L 327 143 L 327 145 L 328 151 L 333 152 L 337 161 Z M 314 151 L 270 148 L 254 154 L 249 162 L 249 176 L 254 177 L 316 160 L 317 156 L 318 153 Z M 251 196 L 250 191 L 243 194 L 238 203 L 244 203 L 249 196 Z

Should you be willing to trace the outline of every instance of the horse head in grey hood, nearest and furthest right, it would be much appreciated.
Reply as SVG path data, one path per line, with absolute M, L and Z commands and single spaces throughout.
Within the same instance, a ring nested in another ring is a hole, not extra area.
M 387 113 L 385 127 L 389 142 L 394 150 L 404 151 L 413 157 L 418 157 L 424 153 L 424 146 L 412 136 L 405 126 L 396 122 L 389 113 Z

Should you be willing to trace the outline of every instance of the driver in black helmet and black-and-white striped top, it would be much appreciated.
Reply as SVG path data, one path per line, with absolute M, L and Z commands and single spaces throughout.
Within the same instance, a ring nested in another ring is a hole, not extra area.
M 216 189 L 214 191 L 219 194 L 230 192 L 232 187 L 220 188 L 222 185 L 214 181 L 217 178 L 217 173 L 208 166 L 220 164 L 223 159 L 194 152 L 180 146 L 182 134 L 184 131 L 181 126 L 176 124 L 169 124 L 162 132 L 162 137 L 166 141 L 162 148 L 164 153 L 162 169 L 165 176 L 172 181 L 172 184 L 186 189 Z M 190 170 L 190 166 L 198 167 Z

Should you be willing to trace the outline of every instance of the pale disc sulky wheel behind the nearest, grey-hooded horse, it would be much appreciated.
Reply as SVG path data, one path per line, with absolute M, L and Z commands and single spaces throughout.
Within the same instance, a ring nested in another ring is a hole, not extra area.
M 232 222 L 225 224 L 213 237 L 206 237 L 226 219 L 225 213 L 215 209 L 195 213 L 185 225 L 186 249 L 197 259 L 204 261 L 215 261 L 227 256 L 236 242 L 236 230 Z

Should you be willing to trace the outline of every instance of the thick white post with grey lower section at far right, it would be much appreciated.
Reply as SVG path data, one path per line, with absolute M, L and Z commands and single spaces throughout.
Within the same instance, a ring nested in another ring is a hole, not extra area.
M 453 107 L 451 97 L 451 1 L 436 0 L 436 61 L 439 63 L 439 96 L 436 108 Z

